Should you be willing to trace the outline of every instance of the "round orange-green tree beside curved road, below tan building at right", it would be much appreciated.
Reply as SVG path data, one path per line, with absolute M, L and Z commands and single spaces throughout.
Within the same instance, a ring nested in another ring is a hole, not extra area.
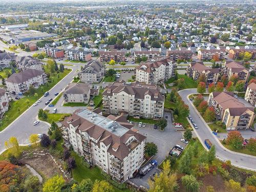
M 230 131 L 227 134 L 226 143 L 232 148 L 241 148 L 244 138 L 239 131 Z

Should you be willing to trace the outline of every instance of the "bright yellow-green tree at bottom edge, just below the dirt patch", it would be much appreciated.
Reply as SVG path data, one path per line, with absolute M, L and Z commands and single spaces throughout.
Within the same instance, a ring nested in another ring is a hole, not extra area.
M 50 179 L 48 179 L 44 187 L 42 188 L 42 191 L 44 192 L 61 192 L 61 188 L 65 185 L 65 180 L 62 176 L 54 176 Z

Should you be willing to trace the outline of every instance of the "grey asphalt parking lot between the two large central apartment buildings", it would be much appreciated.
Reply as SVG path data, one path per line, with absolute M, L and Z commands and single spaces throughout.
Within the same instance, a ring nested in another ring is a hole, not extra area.
M 177 128 L 172 124 L 172 116 L 170 113 L 164 113 L 164 118 L 167 120 L 168 125 L 164 131 L 155 130 L 154 125 L 146 124 L 145 127 L 138 127 L 138 123 L 135 124 L 135 128 L 139 130 L 139 133 L 147 137 L 147 142 L 154 142 L 158 146 L 157 154 L 152 158 L 158 161 L 160 164 L 165 157 L 168 155 L 169 151 L 176 144 L 183 147 L 186 146 L 185 143 L 181 142 L 182 132 L 177 132 Z M 148 187 L 147 180 L 154 173 L 159 173 L 157 167 L 154 167 L 145 176 L 140 176 L 138 174 L 135 178 L 130 179 L 133 183 L 140 186 L 143 185 Z

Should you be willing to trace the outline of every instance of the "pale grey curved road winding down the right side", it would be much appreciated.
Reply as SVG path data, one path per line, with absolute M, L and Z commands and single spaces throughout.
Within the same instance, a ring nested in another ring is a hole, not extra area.
M 188 95 L 195 93 L 197 93 L 197 89 L 186 89 L 179 91 L 182 100 L 189 106 L 191 117 L 198 126 L 198 130 L 194 129 L 194 131 L 200 138 L 200 141 L 202 142 L 203 146 L 205 147 L 204 140 L 209 139 L 211 143 L 216 146 L 217 158 L 220 158 L 221 160 L 224 161 L 230 160 L 231 164 L 234 166 L 256 170 L 256 157 L 227 150 L 227 148 L 225 148 L 220 143 L 218 138 L 211 133 L 208 125 L 205 123 L 201 115 L 197 112 L 193 103 L 187 98 Z

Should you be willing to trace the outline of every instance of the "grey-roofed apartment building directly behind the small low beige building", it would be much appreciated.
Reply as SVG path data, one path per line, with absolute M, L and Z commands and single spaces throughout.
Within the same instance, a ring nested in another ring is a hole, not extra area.
M 100 82 L 104 77 L 104 65 L 98 60 L 90 61 L 78 74 L 81 82 Z

